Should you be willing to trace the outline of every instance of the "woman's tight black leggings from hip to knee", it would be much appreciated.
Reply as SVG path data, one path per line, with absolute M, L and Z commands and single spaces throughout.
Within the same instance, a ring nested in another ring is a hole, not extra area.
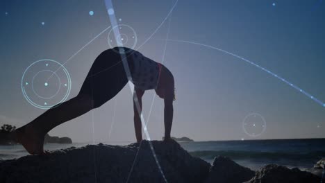
M 108 49 L 92 64 L 78 96 L 90 96 L 96 108 L 116 96 L 127 82 L 121 55 Z

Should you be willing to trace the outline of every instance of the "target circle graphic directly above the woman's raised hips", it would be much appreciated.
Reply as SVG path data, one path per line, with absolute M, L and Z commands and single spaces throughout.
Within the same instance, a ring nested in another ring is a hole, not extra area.
M 115 37 L 114 32 L 117 31 L 114 29 L 116 28 L 118 29 L 119 35 Z M 138 37 L 137 33 L 135 33 L 135 30 L 131 26 L 128 26 L 126 24 L 119 24 L 110 30 L 108 33 L 107 41 L 111 49 L 114 48 L 116 44 L 134 49 L 137 45 Z

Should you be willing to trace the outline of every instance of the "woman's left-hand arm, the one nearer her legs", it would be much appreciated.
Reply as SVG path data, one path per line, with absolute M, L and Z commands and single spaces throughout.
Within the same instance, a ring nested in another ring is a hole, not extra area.
M 134 129 L 135 129 L 135 137 L 137 138 L 137 142 L 142 141 L 142 125 L 140 115 L 137 109 L 137 99 L 135 96 L 138 97 L 138 103 L 140 105 L 140 114 L 142 113 L 142 96 L 144 91 L 141 89 L 134 89 L 133 92 L 133 111 L 134 111 Z

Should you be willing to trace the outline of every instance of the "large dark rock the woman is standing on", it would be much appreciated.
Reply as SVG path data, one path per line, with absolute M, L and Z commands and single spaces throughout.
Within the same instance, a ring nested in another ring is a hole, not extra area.
M 210 164 L 176 141 L 151 141 L 168 182 L 203 182 Z M 140 149 L 140 150 L 139 150 Z M 139 151 L 138 151 L 139 150 Z M 136 158 L 135 158 L 136 157 Z M 0 182 L 165 182 L 148 141 L 55 150 L 0 162 Z

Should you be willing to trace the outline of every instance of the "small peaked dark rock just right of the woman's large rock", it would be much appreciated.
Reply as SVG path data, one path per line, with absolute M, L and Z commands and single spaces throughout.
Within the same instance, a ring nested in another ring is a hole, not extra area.
M 254 175 L 251 169 L 236 164 L 228 157 L 218 156 L 213 161 L 205 183 L 238 183 L 250 180 Z

